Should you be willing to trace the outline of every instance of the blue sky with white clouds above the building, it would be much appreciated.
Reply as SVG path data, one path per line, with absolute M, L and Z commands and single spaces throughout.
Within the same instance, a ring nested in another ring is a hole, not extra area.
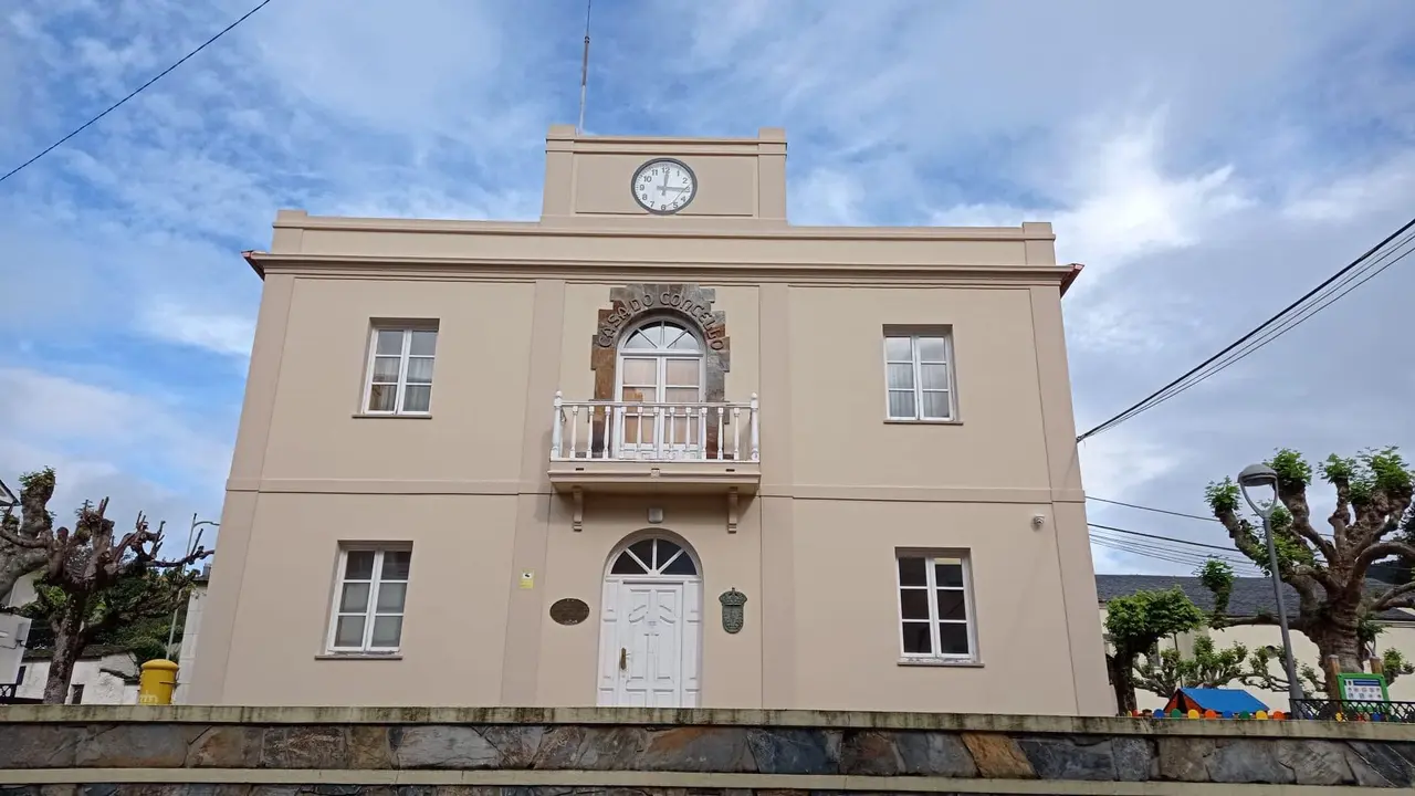
M 253 0 L 0 10 L 0 171 Z M 215 518 L 276 208 L 535 218 L 573 123 L 579 0 L 275 0 L 0 184 L 0 477 Z M 1053 221 L 1078 423 L 1215 351 L 1415 207 L 1404 0 L 600 0 L 590 133 L 784 126 L 797 224 Z M 1203 513 L 1279 445 L 1415 445 L 1392 268 L 1182 398 L 1087 442 L 1088 491 Z M 1415 450 L 1412 450 L 1415 453 Z M 1320 501 L 1319 501 L 1320 506 Z M 1194 520 L 1094 521 L 1223 541 Z M 1108 571 L 1186 571 L 1097 550 Z

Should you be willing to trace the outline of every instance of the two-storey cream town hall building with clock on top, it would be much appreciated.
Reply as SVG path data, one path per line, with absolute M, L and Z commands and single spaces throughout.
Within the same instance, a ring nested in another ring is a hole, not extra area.
M 1107 714 L 1049 224 L 546 140 L 535 222 L 282 211 L 190 701 Z

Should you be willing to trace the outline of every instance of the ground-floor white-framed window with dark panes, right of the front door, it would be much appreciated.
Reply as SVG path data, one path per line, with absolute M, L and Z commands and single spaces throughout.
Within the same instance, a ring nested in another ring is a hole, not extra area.
M 899 557 L 900 640 L 906 659 L 976 657 L 971 586 L 964 555 Z

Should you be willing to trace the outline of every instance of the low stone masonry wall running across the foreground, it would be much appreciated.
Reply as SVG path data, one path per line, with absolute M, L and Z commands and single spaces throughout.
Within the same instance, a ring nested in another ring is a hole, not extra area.
M 712 710 L 0 707 L 6 796 L 1214 792 L 1197 783 L 1224 783 L 1223 793 L 1268 793 L 1271 785 L 1313 793 L 1411 788 L 1415 727 Z

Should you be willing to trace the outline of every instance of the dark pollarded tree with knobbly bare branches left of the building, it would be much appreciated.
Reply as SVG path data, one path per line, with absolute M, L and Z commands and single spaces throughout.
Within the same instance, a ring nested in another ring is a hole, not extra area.
M 0 528 L 0 538 L 25 550 L 42 550 L 45 565 L 38 582 L 42 613 L 54 633 L 54 657 L 44 686 L 44 701 L 62 704 L 74 678 L 79 653 L 98 633 L 132 630 L 134 623 L 171 613 L 195 576 L 188 567 L 208 555 L 197 548 L 175 561 L 157 558 L 163 527 L 153 531 L 139 514 L 133 530 L 115 535 L 105 517 L 108 500 L 85 503 L 74 530 L 41 530 L 34 535 Z M 166 586 L 166 588 L 163 588 Z

